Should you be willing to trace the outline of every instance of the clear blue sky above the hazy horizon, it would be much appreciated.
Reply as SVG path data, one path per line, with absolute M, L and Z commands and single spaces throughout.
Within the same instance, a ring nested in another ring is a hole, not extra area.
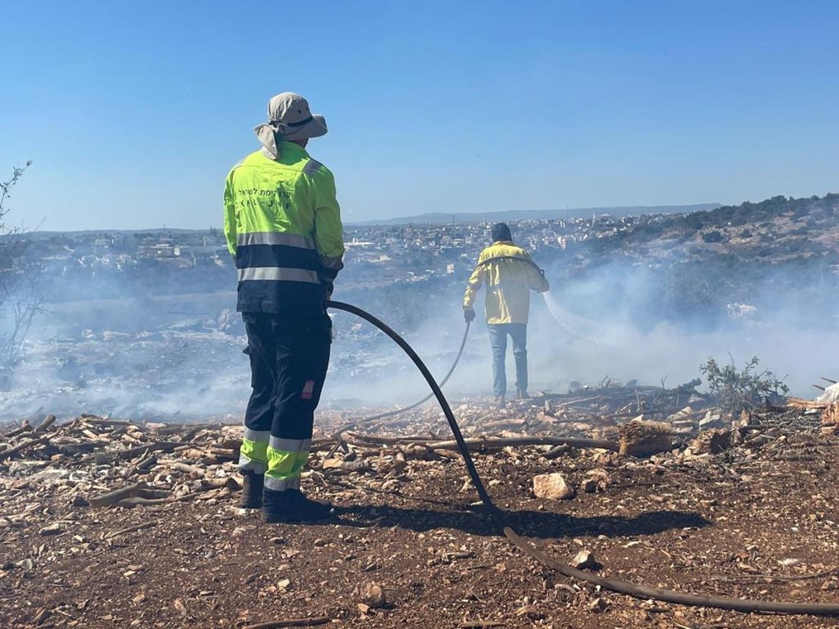
M 39 2 L 0 15 L 0 173 L 44 230 L 221 223 L 279 91 L 345 220 L 839 191 L 839 3 Z

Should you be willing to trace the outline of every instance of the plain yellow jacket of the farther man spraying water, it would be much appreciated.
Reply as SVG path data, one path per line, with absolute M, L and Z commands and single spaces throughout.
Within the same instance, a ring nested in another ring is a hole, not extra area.
M 530 259 L 529 253 L 521 247 L 516 247 L 513 242 L 493 242 L 477 259 L 478 266 L 466 284 L 463 307 L 472 308 L 477 290 L 486 282 L 487 297 L 484 307 L 487 311 L 487 323 L 527 323 L 530 314 L 530 291 L 544 293 L 550 289 L 548 280 L 533 264 L 518 260 L 492 262 L 492 258 L 495 257 Z

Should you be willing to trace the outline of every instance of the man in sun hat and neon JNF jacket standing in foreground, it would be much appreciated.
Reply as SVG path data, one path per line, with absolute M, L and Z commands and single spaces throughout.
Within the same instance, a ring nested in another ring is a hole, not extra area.
M 303 96 L 274 96 L 268 122 L 255 128 L 262 148 L 233 167 L 224 189 L 253 388 L 239 459 L 242 507 L 261 507 L 263 522 L 331 511 L 300 491 L 329 364 L 326 301 L 344 254 L 335 179 L 305 150 L 326 130 Z

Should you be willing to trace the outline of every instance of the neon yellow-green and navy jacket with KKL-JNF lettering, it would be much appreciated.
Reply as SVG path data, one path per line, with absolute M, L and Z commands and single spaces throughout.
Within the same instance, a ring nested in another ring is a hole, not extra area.
M 227 175 L 224 234 L 236 259 L 237 310 L 279 313 L 324 303 L 343 268 L 341 209 L 329 169 L 299 144 L 251 153 Z

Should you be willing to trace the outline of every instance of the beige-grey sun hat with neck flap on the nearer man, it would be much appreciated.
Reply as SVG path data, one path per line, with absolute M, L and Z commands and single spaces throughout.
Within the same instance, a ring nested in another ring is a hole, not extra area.
M 326 134 L 326 118 L 309 110 L 309 101 L 300 94 L 284 91 L 268 101 L 268 122 L 254 127 L 259 142 L 274 159 L 279 157 L 277 143 L 319 138 Z

